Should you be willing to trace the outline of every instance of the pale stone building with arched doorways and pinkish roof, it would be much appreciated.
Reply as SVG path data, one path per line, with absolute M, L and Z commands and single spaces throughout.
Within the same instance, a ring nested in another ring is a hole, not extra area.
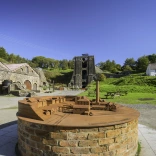
M 44 75 L 44 74 L 43 74 Z M 40 75 L 32 69 L 27 63 L 4 64 L 0 62 L 0 84 L 4 80 L 12 82 L 11 90 L 28 89 L 39 90 L 39 87 L 45 85 L 46 78 L 41 80 Z

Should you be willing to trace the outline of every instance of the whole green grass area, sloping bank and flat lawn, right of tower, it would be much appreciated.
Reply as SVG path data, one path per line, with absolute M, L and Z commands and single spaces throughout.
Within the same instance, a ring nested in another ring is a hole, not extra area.
M 127 91 L 125 96 L 105 99 L 120 104 L 156 104 L 156 77 L 133 74 L 121 78 L 107 78 L 99 83 L 100 98 L 105 98 L 107 92 Z M 87 86 L 87 91 L 80 96 L 88 96 L 89 91 L 94 91 L 96 83 Z M 96 96 L 96 95 L 95 95 Z M 91 94 L 90 99 L 95 98 Z

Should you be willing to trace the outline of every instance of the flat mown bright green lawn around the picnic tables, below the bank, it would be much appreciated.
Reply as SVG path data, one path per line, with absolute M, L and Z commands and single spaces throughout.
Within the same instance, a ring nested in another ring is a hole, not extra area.
M 105 98 L 106 92 L 100 92 L 100 98 Z M 79 96 L 88 96 L 88 91 L 85 91 Z M 90 96 L 90 99 L 94 99 L 95 96 Z M 117 96 L 115 98 L 105 99 L 108 102 L 115 102 L 120 104 L 156 104 L 156 93 L 128 93 L 125 96 Z

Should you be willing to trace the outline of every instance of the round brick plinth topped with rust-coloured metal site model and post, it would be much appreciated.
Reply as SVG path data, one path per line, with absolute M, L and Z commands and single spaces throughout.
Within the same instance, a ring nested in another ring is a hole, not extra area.
M 95 100 L 44 96 L 19 101 L 20 155 L 135 156 L 139 112 L 101 100 L 98 89 L 96 94 Z

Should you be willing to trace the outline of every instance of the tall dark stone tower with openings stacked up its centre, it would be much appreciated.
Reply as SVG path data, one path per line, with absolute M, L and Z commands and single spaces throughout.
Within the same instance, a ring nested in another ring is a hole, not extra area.
M 74 72 L 71 85 L 79 88 L 85 88 L 95 76 L 94 56 L 82 54 L 82 56 L 74 57 Z

